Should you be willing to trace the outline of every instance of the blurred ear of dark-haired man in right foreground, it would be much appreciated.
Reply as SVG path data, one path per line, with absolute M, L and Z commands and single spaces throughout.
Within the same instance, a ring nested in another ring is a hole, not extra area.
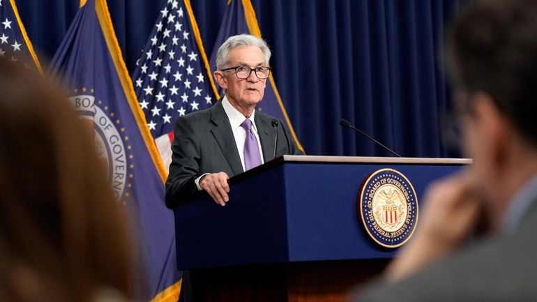
M 493 165 L 504 165 L 511 139 L 513 125 L 499 110 L 487 93 L 476 93 L 473 100 L 474 123 L 483 135 L 481 142 L 487 144 L 487 151 Z

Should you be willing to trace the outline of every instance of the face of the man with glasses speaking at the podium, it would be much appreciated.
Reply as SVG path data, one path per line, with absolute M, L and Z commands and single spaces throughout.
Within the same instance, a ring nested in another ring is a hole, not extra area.
M 236 66 L 266 66 L 265 56 L 257 46 L 237 47 L 229 52 L 229 63 L 226 68 Z M 218 83 L 226 91 L 231 103 L 234 101 L 241 107 L 257 105 L 264 95 L 266 80 L 259 80 L 252 71 L 247 79 L 236 77 L 235 70 L 228 70 L 222 77 L 217 76 Z

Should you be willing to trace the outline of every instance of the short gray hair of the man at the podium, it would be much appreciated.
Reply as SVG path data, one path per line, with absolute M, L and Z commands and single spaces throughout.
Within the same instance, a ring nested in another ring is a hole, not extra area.
M 265 55 L 265 63 L 268 64 L 271 59 L 271 50 L 262 38 L 243 33 L 242 35 L 231 36 L 220 45 L 216 53 L 216 69 L 224 69 L 229 63 L 229 52 L 238 47 L 257 46 Z

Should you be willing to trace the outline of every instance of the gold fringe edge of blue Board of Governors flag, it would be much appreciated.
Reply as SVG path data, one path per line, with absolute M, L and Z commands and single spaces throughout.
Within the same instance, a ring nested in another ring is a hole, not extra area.
M 103 29 L 103 36 L 105 36 L 108 50 L 112 56 L 112 61 L 114 61 L 119 80 L 121 81 L 121 86 L 123 86 L 123 91 L 125 91 L 130 110 L 133 111 L 133 116 L 135 117 L 139 131 L 144 139 L 147 150 L 149 151 L 151 160 L 153 160 L 158 174 L 160 175 L 160 179 L 162 179 L 162 183 L 165 183 L 167 172 L 164 165 L 162 165 L 162 160 L 160 160 L 160 155 L 153 142 L 153 137 L 151 136 L 151 133 L 149 133 L 149 128 L 147 128 L 144 112 L 142 112 L 142 109 L 139 107 L 133 83 L 130 82 L 130 76 L 128 75 L 125 62 L 123 61 L 123 55 L 121 54 L 121 49 L 119 48 L 119 43 L 114 32 L 114 26 L 112 25 L 112 18 L 110 17 L 106 0 L 96 0 L 95 9 L 100 26 Z

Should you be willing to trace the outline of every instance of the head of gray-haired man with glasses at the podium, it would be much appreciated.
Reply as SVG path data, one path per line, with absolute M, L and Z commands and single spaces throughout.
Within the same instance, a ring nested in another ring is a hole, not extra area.
M 264 77 L 263 70 L 252 71 L 245 79 L 237 75 L 241 75 L 240 70 L 267 67 L 270 59 L 269 46 L 263 39 L 251 35 L 229 37 L 218 48 L 214 77 L 234 107 L 253 108 L 261 102 L 267 80 L 257 75 Z

